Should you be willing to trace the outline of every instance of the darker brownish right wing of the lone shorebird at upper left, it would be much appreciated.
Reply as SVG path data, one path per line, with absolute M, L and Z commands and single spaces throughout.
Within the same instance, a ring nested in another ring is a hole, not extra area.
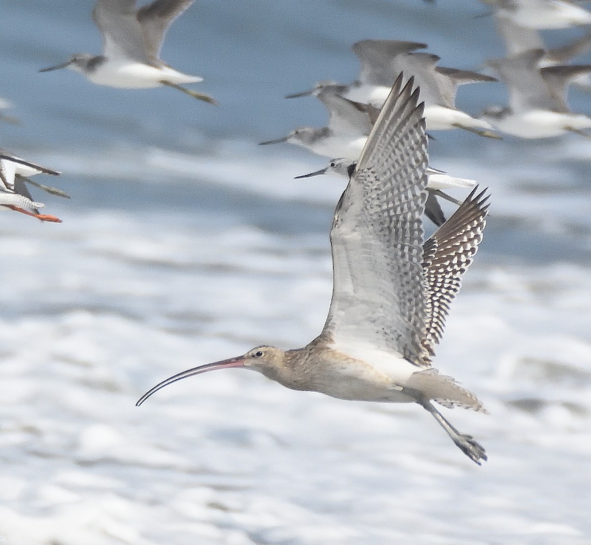
M 156 0 L 138 10 L 137 18 L 144 33 L 145 47 L 152 59 L 160 50 L 168 27 L 194 0 Z

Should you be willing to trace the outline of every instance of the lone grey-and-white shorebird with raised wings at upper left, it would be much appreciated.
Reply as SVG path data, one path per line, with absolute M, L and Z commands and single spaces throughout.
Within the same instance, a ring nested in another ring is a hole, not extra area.
M 159 58 L 168 27 L 193 2 L 155 0 L 136 9 L 135 0 L 98 0 L 92 18 L 103 35 L 103 54 L 77 53 L 65 63 L 39 72 L 70 68 L 98 85 L 125 89 L 167 85 L 193 98 L 216 104 L 209 95 L 179 85 L 202 82 L 202 77 L 178 72 Z

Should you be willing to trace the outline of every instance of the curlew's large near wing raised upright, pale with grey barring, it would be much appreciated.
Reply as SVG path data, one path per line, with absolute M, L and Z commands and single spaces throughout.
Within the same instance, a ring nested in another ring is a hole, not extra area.
M 392 87 L 336 207 L 333 297 L 323 336 L 427 366 L 423 220 L 427 135 L 411 78 Z

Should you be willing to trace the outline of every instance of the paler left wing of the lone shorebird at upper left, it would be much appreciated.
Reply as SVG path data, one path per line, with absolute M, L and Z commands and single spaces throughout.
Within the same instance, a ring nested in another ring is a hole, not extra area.
M 105 57 L 153 64 L 146 51 L 135 0 L 98 0 L 92 19 L 103 35 Z

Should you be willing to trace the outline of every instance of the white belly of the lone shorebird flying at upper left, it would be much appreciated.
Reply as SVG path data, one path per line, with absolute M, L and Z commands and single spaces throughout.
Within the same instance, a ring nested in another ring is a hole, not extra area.
M 100 64 L 98 69 L 87 74 L 88 79 L 97 85 L 120 87 L 122 89 L 150 89 L 158 87 L 160 82 L 197 83 L 202 82 L 199 76 L 189 76 L 177 72 L 168 66 L 155 67 L 143 63 L 124 61 L 107 61 Z

